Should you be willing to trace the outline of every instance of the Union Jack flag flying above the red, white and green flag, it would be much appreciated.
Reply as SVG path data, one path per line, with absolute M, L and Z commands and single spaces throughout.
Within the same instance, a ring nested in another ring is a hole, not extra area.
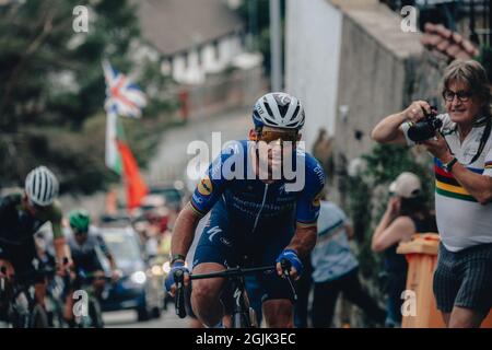
M 106 80 L 104 103 L 106 112 L 124 117 L 140 118 L 142 108 L 147 105 L 147 97 L 142 90 L 114 69 L 108 61 L 103 61 L 103 69 Z

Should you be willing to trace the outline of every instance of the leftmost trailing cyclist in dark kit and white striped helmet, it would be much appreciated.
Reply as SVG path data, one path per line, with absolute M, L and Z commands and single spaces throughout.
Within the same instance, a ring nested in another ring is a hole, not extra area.
M 36 273 L 37 252 L 34 234 L 46 222 L 51 223 L 57 269 L 63 273 L 68 259 L 67 244 L 61 231 L 61 209 L 56 200 L 58 180 L 46 166 L 28 173 L 24 191 L 13 192 L 0 202 L 0 277 L 35 285 L 36 301 L 44 306 L 46 283 Z

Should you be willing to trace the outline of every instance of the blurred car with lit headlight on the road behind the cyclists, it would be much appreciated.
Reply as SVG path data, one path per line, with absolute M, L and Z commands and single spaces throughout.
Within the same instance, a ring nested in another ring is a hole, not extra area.
M 121 278 L 103 299 L 103 311 L 134 310 L 139 320 L 160 317 L 164 299 L 162 276 L 152 273 L 137 232 L 129 225 L 103 226 L 101 234 L 121 271 Z

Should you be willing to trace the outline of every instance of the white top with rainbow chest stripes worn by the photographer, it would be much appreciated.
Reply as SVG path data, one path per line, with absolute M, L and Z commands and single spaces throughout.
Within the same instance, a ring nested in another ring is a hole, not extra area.
M 458 162 L 470 172 L 492 177 L 492 137 L 485 143 L 480 156 L 470 164 L 479 150 L 480 140 L 485 129 L 487 119 L 480 118 L 465 140 L 460 140 L 456 124 L 449 115 L 437 116 L 443 121 L 444 133 L 449 149 Z M 414 143 L 408 138 L 407 124 L 401 126 L 409 145 Z M 435 210 L 441 240 L 450 252 L 492 243 L 492 202 L 480 205 L 466 188 L 434 160 L 435 173 Z

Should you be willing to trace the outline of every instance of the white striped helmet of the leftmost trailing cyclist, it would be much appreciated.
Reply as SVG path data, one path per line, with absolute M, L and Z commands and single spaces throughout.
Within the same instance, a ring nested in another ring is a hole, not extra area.
M 58 180 L 49 168 L 38 166 L 27 174 L 25 192 L 35 205 L 40 207 L 49 206 L 58 196 Z

